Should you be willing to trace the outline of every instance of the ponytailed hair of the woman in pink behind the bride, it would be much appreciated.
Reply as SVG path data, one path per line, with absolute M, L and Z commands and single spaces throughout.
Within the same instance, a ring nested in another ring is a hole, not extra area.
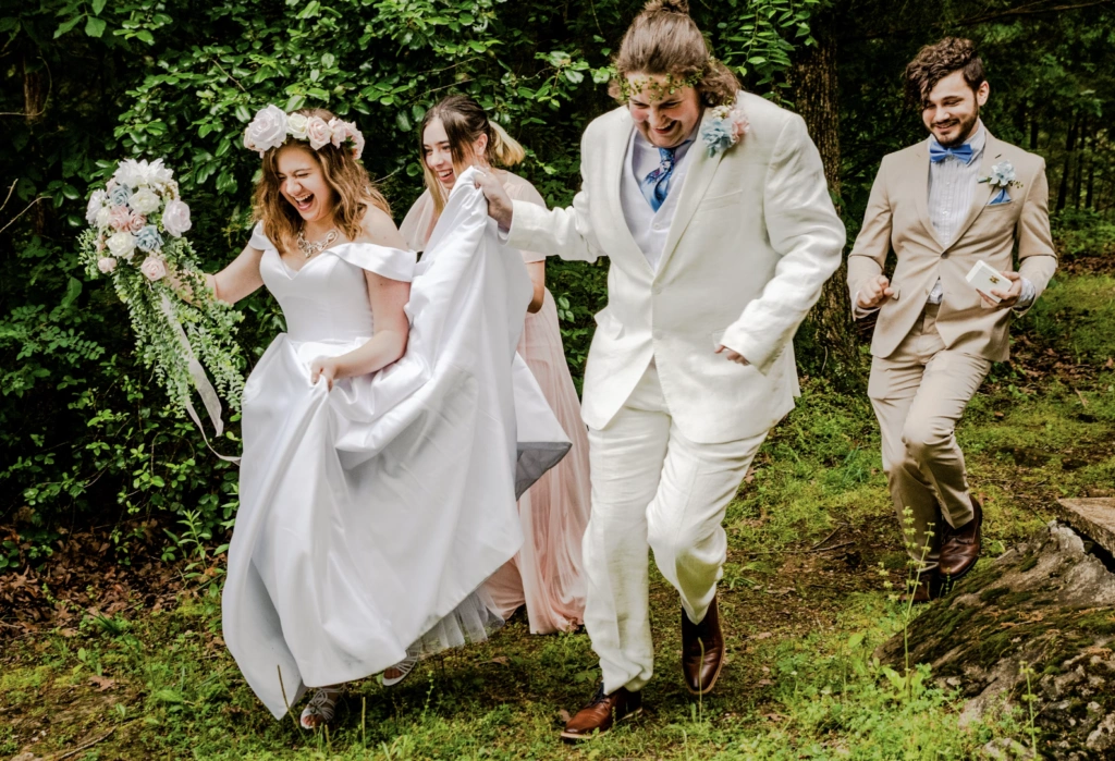
M 449 155 L 454 167 L 466 166 L 473 162 L 473 144 L 481 135 L 487 135 L 487 148 L 484 159 L 492 166 L 514 166 L 526 158 L 526 150 L 515 138 L 495 121 L 487 117 L 487 111 L 478 103 L 466 95 L 450 95 L 426 111 L 418 130 L 418 155 L 421 157 L 421 169 L 426 176 L 426 188 L 434 199 L 434 212 L 440 215 L 448 201 L 448 194 L 434 170 L 426 164 L 426 127 L 434 119 L 439 119 L 445 127 L 449 142 Z

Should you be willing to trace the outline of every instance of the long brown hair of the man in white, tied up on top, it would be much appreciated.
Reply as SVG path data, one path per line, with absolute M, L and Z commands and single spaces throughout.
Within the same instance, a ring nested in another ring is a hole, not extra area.
M 739 80 L 716 60 L 705 36 L 691 18 L 687 0 L 651 0 L 623 35 L 615 56 L 617 77 L 609 94 L 626 101 L 623 84 L 629 74 L 671 77 L 678 86 L 697 89 L 704 106 L 736 103 Z

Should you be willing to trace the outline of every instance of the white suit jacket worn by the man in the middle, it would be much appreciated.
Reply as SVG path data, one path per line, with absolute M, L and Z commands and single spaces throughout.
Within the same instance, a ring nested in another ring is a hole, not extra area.
M 591 428 L 608 426 L 651 358 L 675 423 L 698 443 L 757 436 L 794 407 L 794 333 L 840 265 L 844 225 L 802 118 L 746 92 L 737 103 L 750 131 L 712 157 L 698 136 L 657 272 L 620 206 L 626 107 L 585 130 L 572 207 L 515 202 L 507 245 L 611 260 L 584 375 Z M 714 353 L 719 343 L 750 364 Z

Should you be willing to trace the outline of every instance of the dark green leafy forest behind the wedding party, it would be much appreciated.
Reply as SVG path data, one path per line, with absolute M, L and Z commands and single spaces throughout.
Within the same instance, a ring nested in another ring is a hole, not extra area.
M 1108 115 L 1109 0 L 717 0 L 692 3 L 747 89 L 802 113 L 853 241 L 882 156 L 924 137 L 901 98 L 921 45 L 975 39 L 998 137 L 1043 155 L 1063 256 L 1115 240 Z M 580 186 L 580 137 L 614 108 L 610 57 L 632 0 L 41 0 L 0 11 L 0 573 L 41 564 L 75 526 L 109 529 L 118 562 L 185 520 L 219 542 L 234 467 L 210 455 L 137 364 L 107 281 L 87 282 L 85 199 L 124 157 L 164 158 L 215 271 L 243 246 L 258 157 L 242 148 L 262 106 L 329 108 L 368 139 L 363 162 L 397 221 L 421 191 L 425 109 L 479 100 L 529 149 L 521 172 L 550 205 Z M 607 261 L 551 261 L 574 377 Z M 802 371 L 861 387 L 864 359 L 837 275 L 797 342 Z M 253 362 L 282 330 L 274 301 L 245 300 Z M 245 371 L 250 368 L 245 368 Z M 216 448 L 235 453 L 234 421 Z M 177 536 L 164 557 L 180 552 Z

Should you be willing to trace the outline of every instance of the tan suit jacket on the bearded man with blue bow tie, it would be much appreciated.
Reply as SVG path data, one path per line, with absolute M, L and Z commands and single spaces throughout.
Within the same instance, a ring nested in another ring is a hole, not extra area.
M 1049 234 L 1045 159 L 988 133 L 979 176 L 989 176 L 1002 162 L 1014 165 L 1021 187 L 1011 187 L 1010 201 L 993 206 L 988 202 L 998 188 L 989 183 L 977 187 L 968 217 L 944 245 L 929 217 L 929 140 L 883 157 L 847 266 L 854 304 L 863 284 L 883 272 L 890 251 L 898 256 L 891 275 L 894 295 L 880 309 L 871 343 L 875 357 L 894 353 L 939 277 L 944 299 L 937 329 L 946 348 L 993 362 L 1009 355 L 1011 310 L 986 306 L 964 276 L 979 260 L 999 271 L 1015 270 L 1017 251 L 1018 272 L 1034 283 L 1037 299 L 1057 269 L 1057 257 Z

